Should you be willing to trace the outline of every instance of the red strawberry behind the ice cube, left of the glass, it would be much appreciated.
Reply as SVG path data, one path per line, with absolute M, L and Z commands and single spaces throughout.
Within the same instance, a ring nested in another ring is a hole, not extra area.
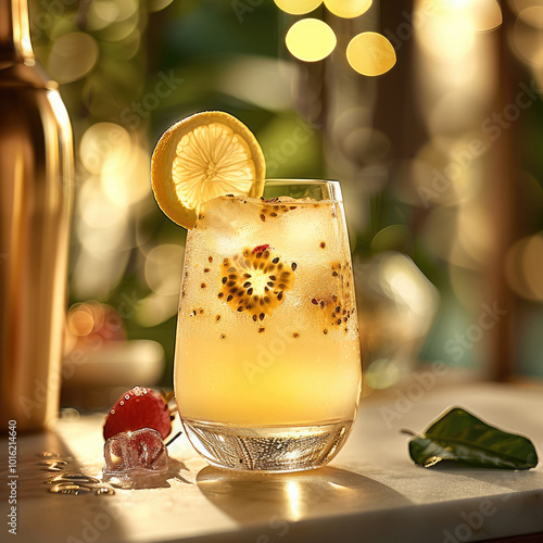
M 172 394 L 157 394 L 144 387 L 134 387 L 125 392 L 105 416 L 103 438 L 108 440 L 119 432 L 154 428 L 165 439 L 172 430 L 168 401 Z

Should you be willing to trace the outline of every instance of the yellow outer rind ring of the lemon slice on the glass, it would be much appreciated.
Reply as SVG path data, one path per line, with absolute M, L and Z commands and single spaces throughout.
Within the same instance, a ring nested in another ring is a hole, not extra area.
M 236 191 L 237 195 L 248 195 L 250 198 L 260 198 L 264 192 L 264 180 L 266 178 L 266 161 L 262 148 L 254 134 L 237 117 L 224 111 L 201 111 L 181 118 L 174 123 L 160 137 L 151 157 L 151 187 L 154 199 L 161 211 L 175 224 L 192 229 L 198 220 L 199 207 L 207 200 L 199 201 L 194 207 L 187 205 L 181 201 L 175 189 L 173 179 L 173 167 L 176 159 L 176 150 L 184 136 L 190 134 L 202 126 L 218 124 L 226 126 L 236 135 L 241 137 L 248 146 L 250 160 L 254 165 L 254 178 L 245 179 L 248 181 L 247 190 Z M 232 179 L 236 182 L 242 179 Z M 225 182 L 224 179 L 209 179 L 206 182 Z M 226 195 L 231 190 L 226 191 Z

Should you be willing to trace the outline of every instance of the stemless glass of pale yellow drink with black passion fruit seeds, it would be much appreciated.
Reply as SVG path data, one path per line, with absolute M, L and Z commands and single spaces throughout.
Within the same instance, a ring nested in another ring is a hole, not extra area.
M 188 232 L 175 354 L 187 435 L 212 465 L 327 464 L 358 406 L 361 356 L 338 181 L 215 198 Z

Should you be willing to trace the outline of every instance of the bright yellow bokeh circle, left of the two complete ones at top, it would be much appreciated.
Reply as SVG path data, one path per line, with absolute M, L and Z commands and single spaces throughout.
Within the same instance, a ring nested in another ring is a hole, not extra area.
M 336 34 L 318 18 L 303 18 L 294 23 L 285 38 L 293 56 L 305 62 L 317 62 L 328 56 L 336 47 Z

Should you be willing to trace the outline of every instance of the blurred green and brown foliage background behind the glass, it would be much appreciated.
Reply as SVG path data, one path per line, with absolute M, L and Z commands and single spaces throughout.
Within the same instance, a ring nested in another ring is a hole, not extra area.
M 149 160 L 174 122 L 224 110 L 257 136 L 273 177 L 341 179 L 377 388 L 402 374 L 390 361 L 411 370 L 416 358 L 542 377 L 543 106 L 533 89 L 543 29 L 532 3 L 510 1 L 503 25 L 471 34 L 424 2 L 375 1 L 355 20 L 320 7 L 307 16 L 326 21 L 338 46 L 310 64 L 283 41 L 303 15 L 272 1 L 34 0 L 35 50 L 76 141 L 71 303 L 106 303 L 128 339 L 160 342 L 171 384 L 185 231 L 155 205 Z M 346 43 L 365 30 L 394 46 L 390 73 L 348 65 Z M 530 103 L 516 115 L 519 92 Z M 292 152 L 298 127 L 307 138 Z M 469 154 L 475 140 L 484 153 Z M 382 256 L 396 253 L 400 264 Z M 382 282 L 391 266 L 403 274 L 394 295 Z M 506 314 L 483 329 L 488 307 Z M 504 334 L 505 369 L 495 361 Z

